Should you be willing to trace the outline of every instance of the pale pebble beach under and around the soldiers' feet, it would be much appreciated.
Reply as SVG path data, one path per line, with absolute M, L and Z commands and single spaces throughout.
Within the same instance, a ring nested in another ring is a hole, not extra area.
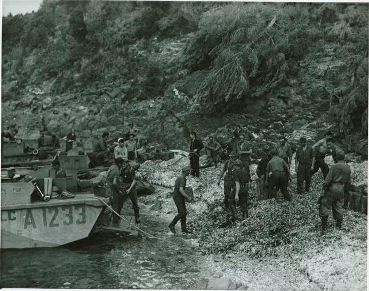
M 330 157 L 327 160 L 333 163 Z M 143 198 L 144 203 L 153 215 L 168 223 L 176 210 L 172 186 L 187 163 L 187 158 L 176 157 L 165 162 L 147 161 L 140 168 L 145 179 L 161 185 L 160 191 Z M 366 184 L 367 161 L 350 162 L 350 166 L 353 183 Z M 220 170 L 221 166 L 206 168 L 200 178 L 188 179 L 195 193 L 195 202 L 187 207 L 189 225 L 195 230 L 189 241 L 204 255 L 205 289 L 366 289 L 367 217 L 346 210 L 343 229 L 335 229 L 330 219 L 328 234 L 320 236 L 320 173 L 314 176 L 311 191 L 298 196 L 291 169 L 291 203 L 256 201 L 252 185 L 249 218 L 227 225 L 223 189 L 216 184 Z M 255 165 L 251 171 L 254 179 Z

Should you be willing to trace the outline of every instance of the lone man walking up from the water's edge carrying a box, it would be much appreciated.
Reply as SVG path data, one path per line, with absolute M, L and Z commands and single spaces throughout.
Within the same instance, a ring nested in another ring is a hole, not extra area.
M 181 175 L 176 179 L 174 184 L 173 200 L 177 206 L 178 214 L 174 217 L 172 222 L 169 224 L 169 229 L 172 233 L 176 233 L 175 225 L 181 220 L 182 233 L 190 233 L 187 229 L 187 211 L 186 211 L 186 200 L 191 201 L 191 198 L 186 194 L 186 177 L 190 174 L 189 168 L 183 168 Z

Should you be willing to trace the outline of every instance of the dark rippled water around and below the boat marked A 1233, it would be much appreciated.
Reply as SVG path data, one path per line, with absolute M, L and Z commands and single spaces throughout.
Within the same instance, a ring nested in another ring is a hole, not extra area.
M 196 248 L 150 219 L 143 229 L 163 240 L 100 233 L 59 248 L 2 251 L 1 287 L 201 288 Z

